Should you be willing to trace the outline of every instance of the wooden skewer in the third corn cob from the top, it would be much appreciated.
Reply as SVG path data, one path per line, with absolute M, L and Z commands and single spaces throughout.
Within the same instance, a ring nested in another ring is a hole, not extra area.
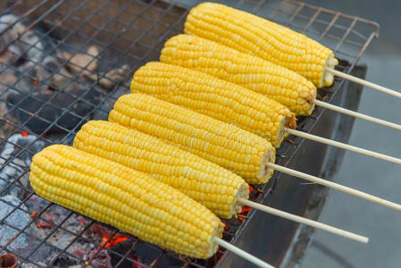
M 363 149 L 363 148 L 360 148 L 360 147 L 353 147 L 353 146 L 347 145 L 347 144 L 342 143 L 342 142 L 331 140 L 329 138 L 322 138 L 322 137 L 318 137 L 318 136 L 315 136 L 315 135 L 312 135 L 312 134 L 309 134 L 309 133 L 305 133 L 305 132 L 298 131 L 298 130 L 292 130 L 292 129 L 288 129 L 288 128 L 285 128 L 285 131 L 288 131 L 288 133 L 291 134 L 291 135 L 295 135 L 295 136 L 298 136 L 298 137 L 301 137 L 301 138 L 311 139 L 311 140 L 314 140 L 314 141 L 317 141 L 317 142 L 321 142 L 321 143 L 324 143 L 324 144 L 327 144 L 327 145 L 330 145 L 330 146 L 333 146 L 333 147 L 338 147 L 338 148 L 341 148 L 341 149 L 346 149 L 346 150 L 349 150 L 349 151 L 353 151 L 353 152 L 358 153 L 358 154 L 372 156 L 372 157 L 379 158 L 381 160 L 385 160 L 385 161 L 392 162 L 392 163 L 401 163 L 401 159 L 399 159 L 397 157 L 383 155 L 383 154 L 376 153 L 376 152 L 373 152 L 373 151 L 370 151 L 370 150 L 366 150 L 366 149 Z

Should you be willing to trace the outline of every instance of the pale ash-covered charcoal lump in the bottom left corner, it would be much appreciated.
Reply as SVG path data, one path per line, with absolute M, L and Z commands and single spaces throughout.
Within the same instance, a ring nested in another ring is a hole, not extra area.
M 39 232 L 36 226 L 30 224 L 29 228 L 20 233 L 20 230 L 23 230 L 31 221 L 29 214 L 22 211 L 27 209 L 25 205 L 21 205 L 20 209 L 13 211 L 14 206 L 20 204 L 21 201 L 17 197 L 0 197 L 0 222 L 4 220 L 4 223 L 0 225 L 0 245 L 5 246 L 10 241 L 6 247 L 7 250 L 11 250 L 21 257 L 29 256 L 31 262 L 46 260 L 50 253 L 50 248 L 46 245 L 42 245 L 38 250 L 32 252 L 39 246 L 39 239 L 42 239 L 37 237 Z M 13 213 L 10 214 L 12 211 Z

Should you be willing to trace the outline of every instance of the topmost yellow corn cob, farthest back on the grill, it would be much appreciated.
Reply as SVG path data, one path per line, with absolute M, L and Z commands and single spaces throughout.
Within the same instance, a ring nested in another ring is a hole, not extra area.
M 330 48 L 254 14 L 223 4 L 199 4 L 188 14 L 185 33 L 297 71 L 316 87 L 333 83 L 333 76 L 324 71 L 338 64 Z

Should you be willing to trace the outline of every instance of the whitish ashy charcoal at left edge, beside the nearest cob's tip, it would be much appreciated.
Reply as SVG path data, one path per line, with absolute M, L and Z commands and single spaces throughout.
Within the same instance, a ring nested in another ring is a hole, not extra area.
M 32 156 L 44 147 L 45 143 L 42 140 L 36 140 L 36 136 L 34 135 L 13 134 L 13 136 L 7 139 L 0 153 L 0 167 L 6 161 L 12 161 L 0 169 L 0 191 L 19 177 L 21 178 L 14 184 L 18 184 L 21 188 L 13 185 L 4 191 L 2 196 L 13 195 L 14 197 L 23 198 L 23 195 L 27 194 L 27 191 L 24 191 L 22 188 L 29 188 L 29 176 L 21 175 L 29 169 Z M 24 148 L 25 150 L 20 154 Z

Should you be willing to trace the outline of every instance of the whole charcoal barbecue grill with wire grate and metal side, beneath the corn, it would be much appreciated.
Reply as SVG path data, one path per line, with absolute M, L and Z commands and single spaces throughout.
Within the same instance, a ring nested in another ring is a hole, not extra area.
M 377 23 L 294 1 L 241 0 L 230 5 L 318 39 L 334 50 L 341 71 L 364 78 L 366 66 L 357 63 L 378 37 Z M 129 76 L 158 60 L 163 43 L 182 32 L 190 7 L 167 0 L 0 4 L 1 254 L 15 255 L 22 267 L 249 267 L 228 251 L 197 260 L 149 245 L 48 203 L 34 194 L 27 179 L 29 159 L 38 150 L 71 144 L 83 123 L 107 118 L 117 97 L 129 92 Z M 4 16 L 13 20 L 1 24 Z M 17 26 L 20 31 L 13 36 Z M 82 64 L 77 59 L 86 60 Z M 13 79 L 6 77 L 10 73 Z M 337 79 L 332 87 L 320 88 L 318 98 L 356 110 L 361 89 Z M 347 143 L 353 122 L 317 107 L 298 120 L 298 129 Z M 277 151 L 277 162 L 332 180 L 343 154 L 290 136 Z M 253 186 L 250 199 L 316 219 L 327 194 L 327 188 L 276 172 L 269 183 Z M 278 267 L 299 263 L 313 235 L 311 228 L 255 210 L 245 209 L 224 223 L 223 239 Z

